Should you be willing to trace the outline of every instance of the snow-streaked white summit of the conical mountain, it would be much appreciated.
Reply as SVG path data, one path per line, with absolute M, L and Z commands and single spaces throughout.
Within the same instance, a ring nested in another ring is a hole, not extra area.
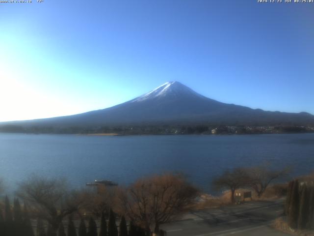
M 161 97 L 166 97 L 166 96 L 169 98 L 171 97 L 178 98 L 180 96 L 187 96 L 187 95 L 203 97 L 202 95 L 186 87 L 180 82 L 171 81 L 171 82 L 164 83 L 163 85 L 157 87 L 156 89 L 131 100 L 131 102 L 141 102 L 141 101 L 145 101 L 149 99 L 161 98 Z

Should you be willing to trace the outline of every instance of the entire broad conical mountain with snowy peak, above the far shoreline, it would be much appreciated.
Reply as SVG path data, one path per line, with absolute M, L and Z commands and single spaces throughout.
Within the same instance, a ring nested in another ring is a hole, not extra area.
M 2 122 L 23 127 L 113 125 L 314 125 L 309 113 L 269 112 L 205 97 L 180 82 L 168 82 L 125 103 L 73 116 Z

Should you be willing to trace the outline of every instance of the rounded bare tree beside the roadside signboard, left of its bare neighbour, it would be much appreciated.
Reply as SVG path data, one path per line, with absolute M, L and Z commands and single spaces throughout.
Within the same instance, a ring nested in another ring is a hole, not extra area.
M 216 189 L 229 188 L 231 190 L 231 202 L 235 203 L 235 190 L 248 184 L 249 176 L 243 168 L 235 168 L 225 171 L 220 177 L 213 180 Z

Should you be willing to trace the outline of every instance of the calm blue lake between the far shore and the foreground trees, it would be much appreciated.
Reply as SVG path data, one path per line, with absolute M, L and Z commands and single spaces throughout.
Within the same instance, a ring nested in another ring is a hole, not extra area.
M 66 177 L 76 187 L 94 179 L 129 184 L 138 177 L 178 171 L 204 191 L 227 168 L 270 161 L 314 170 L 314 134 L 84 136 L 0 134 L 0 177 L 14 189 L 28 175 Z

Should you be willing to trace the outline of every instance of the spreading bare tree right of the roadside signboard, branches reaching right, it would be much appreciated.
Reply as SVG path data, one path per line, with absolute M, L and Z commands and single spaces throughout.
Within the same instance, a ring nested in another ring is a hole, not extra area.
M 245 169 L 249 179 L 248 186 L 254 189 L 257 196 L 260 198 L 265 192 L 271 181 L 288 175 L 289 168 L 282 170 L 272 170 L 269 164 Z

